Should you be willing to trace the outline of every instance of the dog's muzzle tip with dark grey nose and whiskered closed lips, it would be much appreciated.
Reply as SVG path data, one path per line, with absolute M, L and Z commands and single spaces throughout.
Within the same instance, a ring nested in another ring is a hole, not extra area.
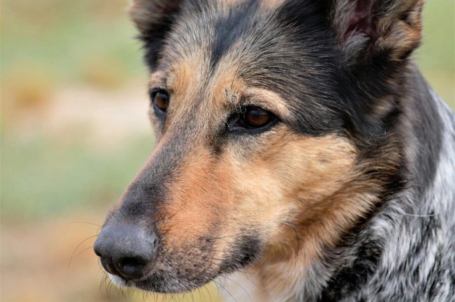
M 251 232 L 179 239 L 140 224 L 110 220 L 94 251 L 114 285 L 182 293 L 247 266 L 261 250 L 260 239 Z

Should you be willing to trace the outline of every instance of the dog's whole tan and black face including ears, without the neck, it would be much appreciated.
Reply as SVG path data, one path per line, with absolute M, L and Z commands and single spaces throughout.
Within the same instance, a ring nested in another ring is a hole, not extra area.
M 187 291 L 336 244 L 396 177 L 416 3 L 135 2 L 157 144 L 95 244 L 112 279 Z

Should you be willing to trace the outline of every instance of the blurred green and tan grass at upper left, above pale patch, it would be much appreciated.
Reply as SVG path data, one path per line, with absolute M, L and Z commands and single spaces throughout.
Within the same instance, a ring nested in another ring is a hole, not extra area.
M 2 75 L 44 70 L 55 84 L 115 87 L 143 74 L 126 1 L 2 0 Z M 102 74 L 102 73 L 105 74 Z

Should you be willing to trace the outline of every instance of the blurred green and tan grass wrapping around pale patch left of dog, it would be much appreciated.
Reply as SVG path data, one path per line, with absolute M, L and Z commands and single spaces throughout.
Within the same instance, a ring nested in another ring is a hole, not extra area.
M 77 135 L 67 145 L 47 133 L 21 139 L 15 131 L 24 111 L 52 106 L 62 86 L 117 89 L 131 78 L 145 81 L 126 7 L 127 1 L 2 0 L 2 222 L 112 203 L 150 153 L 149 137 L 132 135 L 129 148 L 101 155 Z

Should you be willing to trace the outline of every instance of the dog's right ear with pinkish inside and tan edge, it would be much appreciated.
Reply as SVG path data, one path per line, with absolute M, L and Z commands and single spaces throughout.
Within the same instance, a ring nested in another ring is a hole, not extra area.
M 378 58 L 402 62 L 419 46 L 423 0 L 329 2 L 329 21 L 349 65 Z

